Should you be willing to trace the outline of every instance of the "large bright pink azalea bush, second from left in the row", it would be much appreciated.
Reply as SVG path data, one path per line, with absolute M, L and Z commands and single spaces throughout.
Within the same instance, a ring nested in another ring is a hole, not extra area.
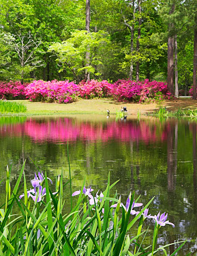
M 77 99 L 79 87 L 68 80 L 35 80 L 27 86 L 25 93 L 30 101 L 71 103 Z

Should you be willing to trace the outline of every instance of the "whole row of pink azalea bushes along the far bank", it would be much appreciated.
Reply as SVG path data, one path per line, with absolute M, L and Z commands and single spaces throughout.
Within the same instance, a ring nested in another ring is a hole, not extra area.
M 192 89 L 190 90 L 192 94 Z M 0 82 L 0 99 L 29 99 L 57 103 L 71 103 L 78 97 L 82 99 L 110 97 L 117 101 L 153 102 L 170 99 L 167 84 L 158 81 L 131 81 L 119 79 L 114 84 L 108 81 L 81 81 L 78 85 L 65 81 L 33 81 L 20 84 L 20 81 Z

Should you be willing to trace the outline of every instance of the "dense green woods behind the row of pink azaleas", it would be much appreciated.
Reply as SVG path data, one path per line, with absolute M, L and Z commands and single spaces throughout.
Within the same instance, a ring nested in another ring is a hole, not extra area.
M 0 79 L 155 79 L 186 94 L 196 17 L 196 0 L 0 0 Z

